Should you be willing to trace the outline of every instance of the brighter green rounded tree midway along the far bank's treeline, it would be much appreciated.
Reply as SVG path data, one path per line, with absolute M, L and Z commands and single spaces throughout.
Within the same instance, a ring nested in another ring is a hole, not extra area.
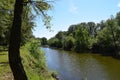
M 76 30 L 75 51 L 84 52 L 88 49 L 88 30 L 83 25 L 78 25 L 79 29 Z

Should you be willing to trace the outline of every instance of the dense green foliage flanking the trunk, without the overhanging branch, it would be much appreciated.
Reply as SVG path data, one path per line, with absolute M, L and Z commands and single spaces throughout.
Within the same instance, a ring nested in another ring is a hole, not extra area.
M 13 21 L 15 0 L 1 0 L 0 4 L 0 45 L 7 46 Z M 24 6 L 21 30 L 22 45 L 33 36 L 32 29 L 34 27 L 34 16 L 30 14 L 30 11 L 31 9 L 29 6 Z

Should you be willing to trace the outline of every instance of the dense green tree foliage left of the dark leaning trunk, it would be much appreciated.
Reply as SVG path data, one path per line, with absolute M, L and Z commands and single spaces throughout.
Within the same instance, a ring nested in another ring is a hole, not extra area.
M 0 45 L 7 46 L 12 25 L 13 0 L 0 1 Z

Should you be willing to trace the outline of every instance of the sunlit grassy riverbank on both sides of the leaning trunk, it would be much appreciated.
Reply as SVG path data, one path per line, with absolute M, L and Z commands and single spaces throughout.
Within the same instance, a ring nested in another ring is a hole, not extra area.
M 44 52 L 39 47 L 35 47 L 33 43 L 27 43 L 21 47 L 20 51 L 28 80 L 54 80 L 47 70 Z M 8 52 L 0 51 L 0 80 L 12 79 L 8 64 Z

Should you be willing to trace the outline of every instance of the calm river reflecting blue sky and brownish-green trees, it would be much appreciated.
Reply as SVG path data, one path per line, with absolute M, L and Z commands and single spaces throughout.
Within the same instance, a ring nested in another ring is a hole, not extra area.
M 120 80 L 120 60 L 100 54 L 42 48 L 49 70 L 61 80 Z

